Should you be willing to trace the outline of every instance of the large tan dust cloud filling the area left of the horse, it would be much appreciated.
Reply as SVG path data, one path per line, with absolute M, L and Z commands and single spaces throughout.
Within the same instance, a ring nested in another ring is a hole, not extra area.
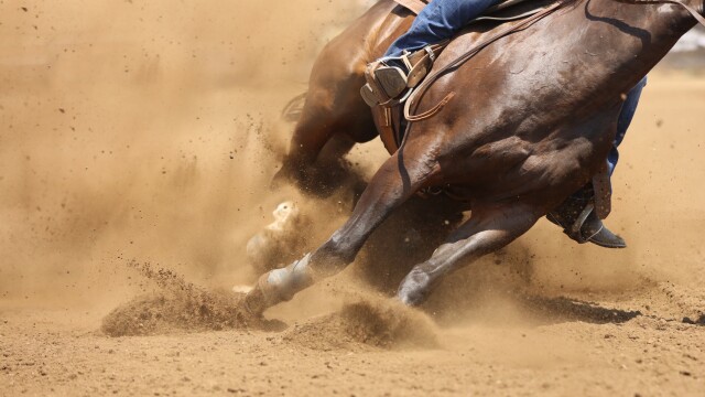
M 245 242 L 281 200 L 279 111 L 360 10 L 0 2 L 0 297 L 113 304 L 145 288 L 131 258 L 249 281 Z

